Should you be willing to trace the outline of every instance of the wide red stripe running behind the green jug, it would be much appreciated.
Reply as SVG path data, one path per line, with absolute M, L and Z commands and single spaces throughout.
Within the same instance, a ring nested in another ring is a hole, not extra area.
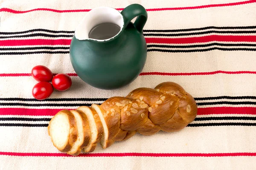
M 147 43 L 166 43 L 166 44 L 189 44 L 198 42 L 256 42 L 255 35 L 208 35 L 203 37 L 186 38 L 145 38 Z M 29 40 L 0 40 L 0 46 L 18 45 L 70 45 L 71 40 L 57 39 L 29 39 Z

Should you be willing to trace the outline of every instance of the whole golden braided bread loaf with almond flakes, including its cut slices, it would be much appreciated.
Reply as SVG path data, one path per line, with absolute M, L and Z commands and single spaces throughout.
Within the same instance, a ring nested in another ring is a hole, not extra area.
M 102 105 L 60 111 L 49 122 L 52 143 L 61 152 L 77 156 L 103 148 L 135 133 L 153 135 L 160 130 L 183 129 L 197 115 L 194 98 L 180 85 L 163 82 L 154 89 L 137 88 L 126 97 L 111 97 Z

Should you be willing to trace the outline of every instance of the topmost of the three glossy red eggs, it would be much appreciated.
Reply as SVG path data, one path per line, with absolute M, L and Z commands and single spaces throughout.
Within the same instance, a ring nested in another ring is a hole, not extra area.
M 37 65 L 32 68 L 32 77 L 38 82 L 50 82 L 52 81 L 52 71 L 44 65 Z

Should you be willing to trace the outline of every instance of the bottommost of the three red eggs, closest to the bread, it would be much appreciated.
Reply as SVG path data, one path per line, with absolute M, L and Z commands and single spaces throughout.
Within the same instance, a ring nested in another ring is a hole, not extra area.
M 35 99 L 47 99 L 53 92 L 52 84 L 49 82 L 38 82 L 32 89 L 32 95 Z

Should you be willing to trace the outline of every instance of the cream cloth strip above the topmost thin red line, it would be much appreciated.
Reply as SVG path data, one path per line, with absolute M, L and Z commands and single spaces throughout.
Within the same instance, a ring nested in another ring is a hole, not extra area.
M 203 5 L 210 5 L 210 4 L 223 4 L 223 3 L 236 3 L 236 2 L 243 2 L 246 0 L 188 0 L 188 1 L 172 1 L 172 0 L 162 0 L 161 3 L 159 1 L 145 1 L 145 0 L 131 0 L 131 1 L 116 1 L 116 0 L 97 0 L 97 1 L 84 1 L 84 0 L 77 0 L 76 3 L 70 3 L 68 0 L 61 1 L 61 5 L 58 1 L 37 1 L 34 3 L 34 0 L 26 0 L 25 2 L 20 2 L 19 0 L 13 0 L 11 2 L 6 2 L 2 4 L 2 8 L 12 7 L 14 10 L 24 11 L 24 10 L 31 10 L 33 8 L 52 8 L 57 10 L 72 10 L 72 9 L 92 9 L 99 6 L 109 6 L 112 8 L 125 8 L 126 6 L 132 3 L 140 3 L 145 8 L 177 8 L 177 7 L 188 7 L 188 6 L 203 6 Z M 20 6 L 23 8 L 20 9 Z

